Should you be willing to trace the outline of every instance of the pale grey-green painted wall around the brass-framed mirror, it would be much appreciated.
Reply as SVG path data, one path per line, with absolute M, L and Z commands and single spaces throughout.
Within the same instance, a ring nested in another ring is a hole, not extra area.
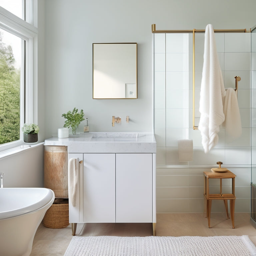
M 256 23 L 254 7 L 253 0 L 45 0 L 45 137 L 57 133 L 64 124 L 61 115 L 74 107 L 84 110 L 91 131 L 150 132 L 151 24 L 156 29 L 204 29 L 208 23 L 216 29 L 250 28 Z M 138 43 L 138 99 L 92 99 L 92 43 L 106 42 Z M 112 127 L 112 115 L 122 120 L 129 115 L 131 122 Z

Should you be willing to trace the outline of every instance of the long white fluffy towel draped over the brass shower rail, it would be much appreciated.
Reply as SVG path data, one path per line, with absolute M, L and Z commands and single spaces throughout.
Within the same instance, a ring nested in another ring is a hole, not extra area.
M 205 29 L 204 64 L 199 105 L 201 117 L 198 125 L 205 153 L 218 143 L 219 126 L 225 120 L 223 113 L 225 95 L 214 30 L 212 25 L 208 24 Z

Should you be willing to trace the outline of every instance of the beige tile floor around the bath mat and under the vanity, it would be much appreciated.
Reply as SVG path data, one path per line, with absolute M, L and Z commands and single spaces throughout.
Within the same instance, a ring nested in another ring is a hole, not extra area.
M 77 224 L 78 236 L 152 236 L 151 223 Z M 158 213 L 157 236 L 248 235 L 256 245 L 256 229 L 249 213 L 235 213 L 235 229 L 225 213 L 211 213 L 211 228 L 202 213 Z M 46 228 L 36 232 L 30 256 L 63 256 L 72 239 L 71 225 L 63 229 Z

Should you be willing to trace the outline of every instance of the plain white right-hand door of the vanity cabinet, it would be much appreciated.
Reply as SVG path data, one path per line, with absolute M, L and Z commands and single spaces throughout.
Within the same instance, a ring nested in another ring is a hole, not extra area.
M 152 222 L 152 154 L 116 154 L 116 222 Z

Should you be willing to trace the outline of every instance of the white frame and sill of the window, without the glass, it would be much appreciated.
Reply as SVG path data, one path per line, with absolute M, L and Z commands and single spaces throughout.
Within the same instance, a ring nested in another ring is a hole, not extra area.
M 34 18 L 37 17 L 37 13 L 34 13 L 35 9 L 33 10 L 33 3 L 37 6 L 37 0 L 26 0 L 26 20 L 31 23 L 33 22 Z M 24 144 L 23 133 L 21 131 L 21 127 L 24 123 L 24 113 L 25 123 L 37 123 L 37 77 L 33 76 L 33 74 L 37 74 L 37 54 L 33 53 L 37 53 L 38 29 L 33 24 L 28 23 L 27 21 L 24 21 L 23 19 L 17 17 L 13 13 L 7 11 L 0 6 L 0 28 L 26 41 L 26 79 L 25 84 L 24 82 L 22 82 L 24 86 L 21 87 L 20 91 L 20 139 L 0 145 L 0 152 L 10 150 Z M 24 67 L 22 68 L 24 69 Z M 23 76 L 21 77 L 21 79 L 23 79 L 24 81 Z M 25 97 L 24 90 L 26 93 Z

